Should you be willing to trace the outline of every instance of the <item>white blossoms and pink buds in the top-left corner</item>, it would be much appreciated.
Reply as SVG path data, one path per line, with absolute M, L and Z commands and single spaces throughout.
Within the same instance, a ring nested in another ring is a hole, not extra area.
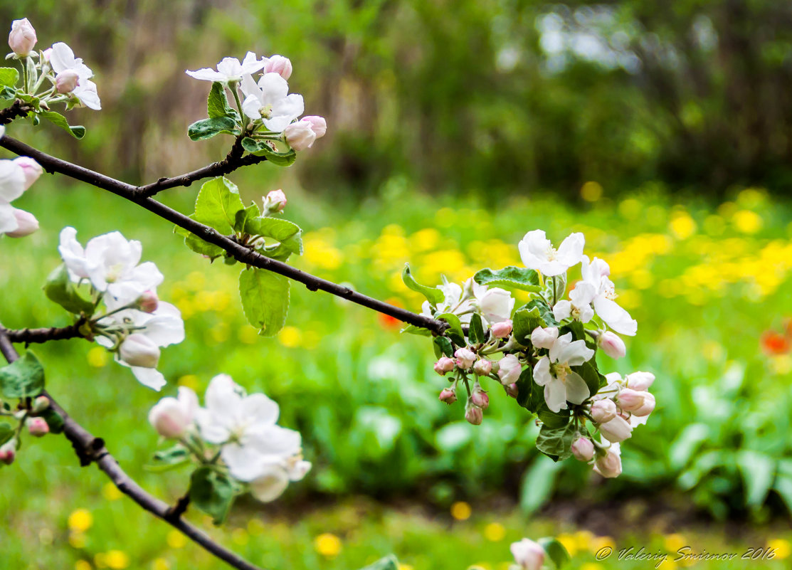
M 35 51 L 37 41 L 36 30 L 27 18 L 13 21 L 8 36 L 11 53 L 6 59 L 21 61 L 23 86 L 17 96 L 44 110 L 60 102 L 67 108 L 101 109 L 96 83 L 91 81 L 93 71 L 82 58 L 74 57 L 74 51 L 63 42 Z

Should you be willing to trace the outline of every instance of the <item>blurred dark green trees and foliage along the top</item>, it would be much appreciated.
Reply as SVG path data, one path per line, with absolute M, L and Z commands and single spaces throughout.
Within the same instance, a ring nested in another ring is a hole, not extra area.
M 183 71 L 252 49 L 291 57 L 292 89 L 329 119 L 297 167 L 317 191 L 367 194 L 394 173 L 496 196 L 792 184 L 786 2 L 46 0 L 0 15 L 93 63 L 105 109 L 81 113 L 80 150 L 58 136 L 131 180 L 217 156 L 184 137 L 206 86 Z

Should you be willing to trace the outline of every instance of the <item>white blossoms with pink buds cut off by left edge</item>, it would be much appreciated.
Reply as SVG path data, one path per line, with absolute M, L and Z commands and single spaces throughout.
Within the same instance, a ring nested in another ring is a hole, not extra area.
M 0 137 L 5 128 L 0 125 Z M 30 212 L 20 210 L 11 202 L 32 186 L 44 172 L 32 158 L 0 160 L 0 235 L 23 238 L 39 229 L 39 222 Z

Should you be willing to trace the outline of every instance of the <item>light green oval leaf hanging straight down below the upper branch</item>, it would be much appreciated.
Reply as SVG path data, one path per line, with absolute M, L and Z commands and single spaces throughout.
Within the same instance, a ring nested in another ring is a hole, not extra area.
M 239 275 L 239 295 L 248 322 L 262 336 L 274 336 L 286 323 L 289 280 L 265 269 L 247 268 Z

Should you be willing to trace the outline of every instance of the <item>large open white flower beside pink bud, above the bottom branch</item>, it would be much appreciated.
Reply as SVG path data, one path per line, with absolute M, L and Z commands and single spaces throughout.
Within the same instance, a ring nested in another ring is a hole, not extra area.
M 198 409 L 196 423 L 209 443 L 223 444 L 220 456 L 239 481 L 255 481 L 273 464 L 299 454 L 297 431 L 276 425 L 278 405 L 263 393 L 246 396 L 227 374 L 212 378 L 206 408 Z

